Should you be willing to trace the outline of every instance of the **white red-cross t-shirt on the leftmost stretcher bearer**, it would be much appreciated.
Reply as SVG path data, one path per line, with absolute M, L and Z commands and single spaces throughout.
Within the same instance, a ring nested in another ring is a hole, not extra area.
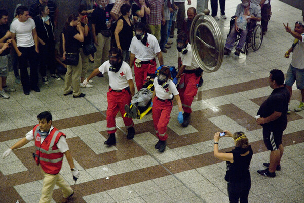
M 123 61 L 118 72 L 109 71 L 111 64 L 109 61 L 104 62 L 98 69 L 102 74 L 105 72 L 109 75 L 109 84 L 113 90 L 123 90 L 129 87 L 128 80 L 133 79 L 132 71 L 125 61 Z

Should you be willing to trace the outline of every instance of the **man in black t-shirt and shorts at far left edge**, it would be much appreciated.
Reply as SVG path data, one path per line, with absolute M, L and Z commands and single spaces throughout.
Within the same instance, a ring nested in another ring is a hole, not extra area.
M 0 10 L 0 97 L 4 99 L 10 98 L 6 92 L 14 92 L 14 88 L 9 88 L 6 84 L 6 79 L 9 74 L 8 67 L 8 54 L 10 53 L 10 47 L 7 47 L 12 42 L 11 32 L 8 26 L 9 13 L 1 9 Z M 5 45 L 6 44 L 6 45 Z

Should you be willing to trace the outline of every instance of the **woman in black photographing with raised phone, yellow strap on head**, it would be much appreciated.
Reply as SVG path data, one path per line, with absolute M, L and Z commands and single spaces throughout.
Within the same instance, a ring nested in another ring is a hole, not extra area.
M 226 153 L 218 151 L 218 141 L 221 137 L 232 137 L 235 148 Z M 252 149 L 248 145 L 248 138 L 239 131 L 234 134 L 229 131 L 217 132 L 214 135 L 214 156 L 227 162 L 225 180 L 228 182 L 228 197 L 230 203 L 248 202 L 251 188 L 249 165 L 252 158 Z

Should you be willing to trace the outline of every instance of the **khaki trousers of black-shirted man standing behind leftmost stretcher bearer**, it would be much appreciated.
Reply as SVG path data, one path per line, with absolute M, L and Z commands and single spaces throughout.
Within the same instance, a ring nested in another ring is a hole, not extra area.
M 94 56 L 94 68 L 99 68 L 101 64 L 109 60 L 111 37 L 105 37 L 101 33 L 98 33 L 96 37 L 97 37 L 98 45 L 95 45 L 97 52 L 95 52 L 95 56 Z

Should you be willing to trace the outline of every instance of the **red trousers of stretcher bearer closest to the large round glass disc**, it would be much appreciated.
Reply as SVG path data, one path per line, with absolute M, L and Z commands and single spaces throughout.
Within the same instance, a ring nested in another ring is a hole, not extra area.
M 182 109 L 186 113 L 191 113 L 191 104 L 194 96 L 198 92 L 197 84 L 200 82 L 200 77 L 196 76 L 194 73 L 184 73 L 181 75 L 178 89 L 179 97 L 182 104 Z

